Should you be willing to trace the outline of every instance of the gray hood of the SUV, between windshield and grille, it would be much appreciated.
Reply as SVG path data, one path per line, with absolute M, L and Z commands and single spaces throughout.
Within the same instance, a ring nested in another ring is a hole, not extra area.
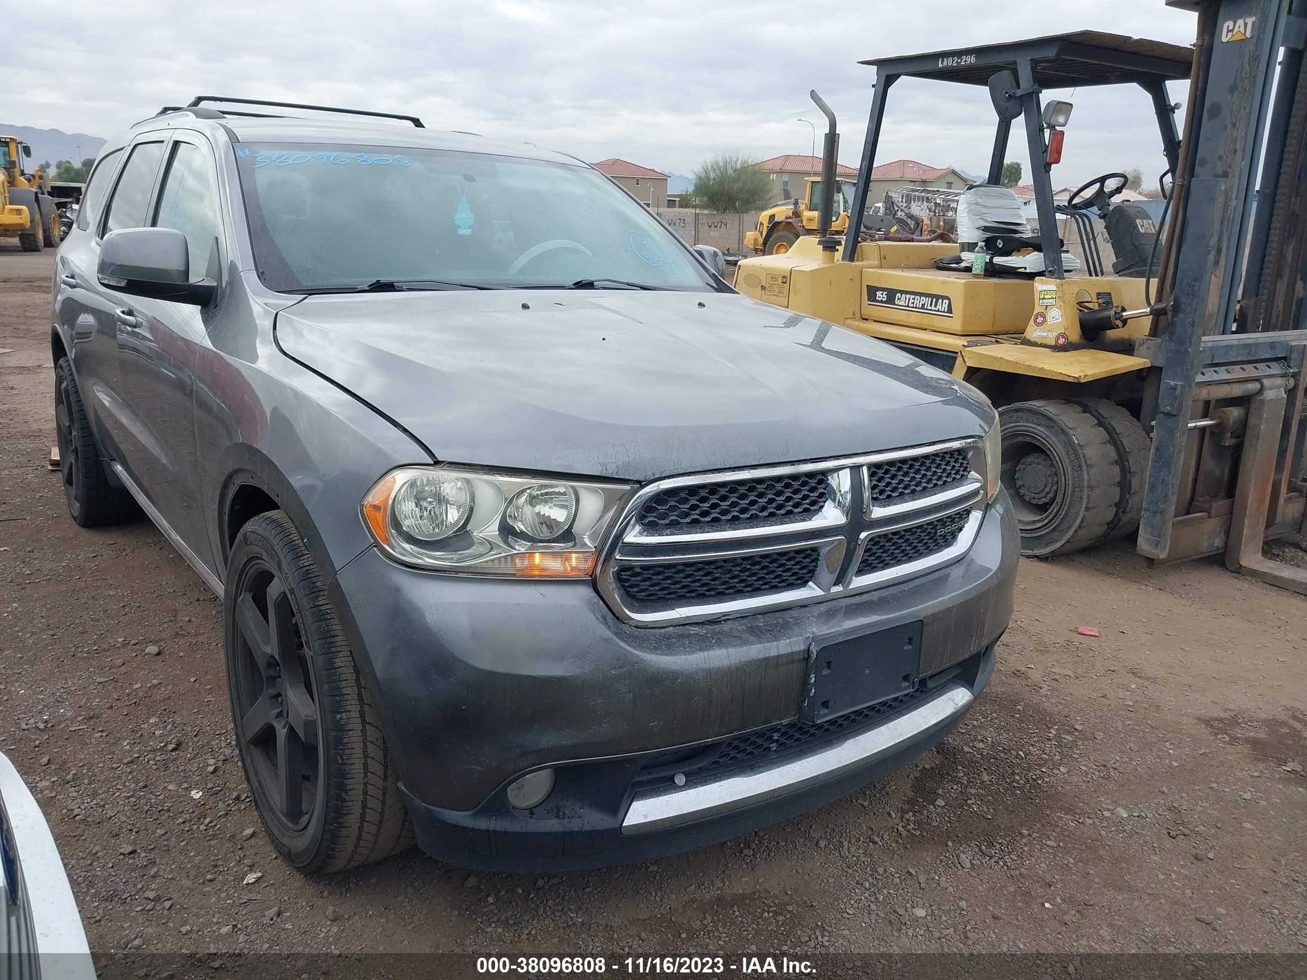
M 276 336 L 444 463 L 647 481 L 980 435 L 993 418 L 887 344 L 735 294 L 316 295 Z

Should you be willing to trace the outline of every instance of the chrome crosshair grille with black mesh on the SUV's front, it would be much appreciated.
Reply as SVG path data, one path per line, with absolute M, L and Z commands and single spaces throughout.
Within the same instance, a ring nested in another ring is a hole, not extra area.
M 957 561 L 984 511 L 979 439 L 674 477 L 618 521 L 597 583 L 626 622 L 818 601 Z

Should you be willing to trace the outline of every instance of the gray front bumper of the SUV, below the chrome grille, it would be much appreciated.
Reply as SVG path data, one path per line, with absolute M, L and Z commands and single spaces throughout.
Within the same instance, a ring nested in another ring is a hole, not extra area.
M 431 575 L 375 550 L 341 568 L 333 591 L 418 843 L 457 864 L 525 870 L 642 860 L 724 839 L 819 805 L 929 747 L 988 679 L 1012 615 L 1017 555 L 1016 517 L 1000 494 L 951 566 L 714 623 L 629 626 L 589 583 Z M 948 690 L 962 690 L 950 710 L 936 706 L 931 724 L 914 723 L 874 751 L 850 750 L 840 766 L 808 774 L 801 789 L 782 783 L 758 792 L 755 783 L 711 813 L 629 823 L 631 811 L 654 806 L 633 785 L 651 755 L 792 721 L 814 640 L 914 621 L 923 623 L 923 677 L 971 665 L 970 682 L 949 681 Z M 558 767 L 546 804 L 532 815 L 508 808 L 502 789 L 545 766 Z

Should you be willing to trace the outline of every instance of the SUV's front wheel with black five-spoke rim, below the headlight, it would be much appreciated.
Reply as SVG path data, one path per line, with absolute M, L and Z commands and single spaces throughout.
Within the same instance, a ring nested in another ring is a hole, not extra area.
M 260 514 L 237 533 L 222 632 L 240 764 L 277 852 L 319 874 L 409 847 L 413 826 L 376 710 L 285 512 Z

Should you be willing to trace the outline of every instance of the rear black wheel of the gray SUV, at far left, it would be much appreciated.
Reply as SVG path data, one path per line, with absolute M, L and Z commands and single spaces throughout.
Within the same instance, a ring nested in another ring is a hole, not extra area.
M 99 446 L 86 417 L 72 361 L 67 357 L 55 365 L 55 435 L 64 500 L 78 525 L 95 528 L 140 516 L 131 494 L 110 483 L 105 474 Z

